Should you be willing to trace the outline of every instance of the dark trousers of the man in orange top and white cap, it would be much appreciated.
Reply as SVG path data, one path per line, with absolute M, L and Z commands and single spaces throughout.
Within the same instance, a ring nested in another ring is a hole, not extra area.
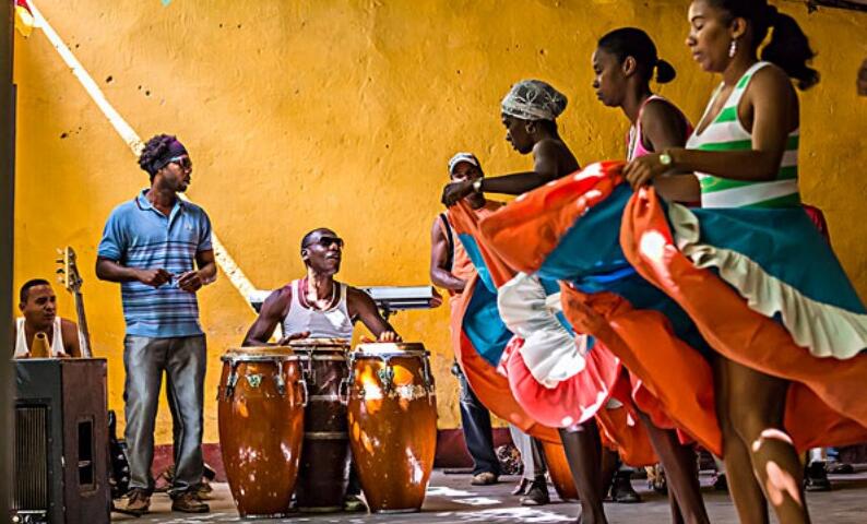
M 464 373 L 458 372 L 461 385 L 461 426 L 466 450 L 473 457 L 473 475 L 489 472 L 500 474 L 500 461 L 494 452 L 494 436 L 490 430 L 490 413 L 466 382 Z

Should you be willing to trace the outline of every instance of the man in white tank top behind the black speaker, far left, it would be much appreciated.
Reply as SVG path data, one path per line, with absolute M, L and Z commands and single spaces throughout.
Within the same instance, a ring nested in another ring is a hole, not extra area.
M 57 315 L 57 296 L 51 284 L 41 278 L 27 281 L 21 286 L 15 319 L 15 358 L 27 358 L 36 333 L 45 333 L 52 357 L 81 357 L 79 326 L 71 320 Z

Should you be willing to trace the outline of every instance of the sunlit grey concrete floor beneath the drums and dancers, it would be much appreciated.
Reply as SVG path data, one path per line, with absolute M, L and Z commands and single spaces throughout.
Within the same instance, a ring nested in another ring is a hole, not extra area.
M 808 504 L 816 523 L 867 523 L 867 471 L 859 468 L 854 475 L 831 475 L 834 489 L 830 492 L 808 493 Z M 427 499 L 420 513 L 396 515 L 299 514 L 283 520 L 256 520 L 254 522 L 286 523 L 464 523 L 464 522 L 574 522 L 579 505 L 561 502 L 550 488 L 551 503 L 544 507 L 524 508 L 518 498 L 510 495 L 518 477 L 502 477 L 494 486 L 470 486 L 468 475 L 444 475 L 434 472 L 428 487 Z M 702 476 L 702 484 L 710 477 Z M 665 497 L 649 491 L 643 480 L 634 480 L 636 490 L 644 498 L 639 504 L 607 503 L 606 512 L 611 524 L 627 523 L 667 523 L 670 522 L 668 501 Z M 704 501 L 711 522 L 714 524 L 735 524 L 735 510 L 726 493 L 704 488 Z M 121 504 L 123 501 L 119 501 Z M 136 523 L 192 523 L 192 522 L 240 522 L 231 501 L 228 485 L 214 485 L 213 499 L 209 501 L 211 513 L 188 515 L 170 512 L 170 501 L 166 495 L 155 495 L 152 513 L 141 519 L 114 513 L 112 521 Z M 772 522 L 776 522 L 773 520 Z

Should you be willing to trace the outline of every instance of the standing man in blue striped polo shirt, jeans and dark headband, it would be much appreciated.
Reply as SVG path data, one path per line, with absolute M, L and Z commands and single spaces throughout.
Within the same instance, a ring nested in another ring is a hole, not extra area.
M 127 321 L 123 400 L 132 489 L 126 511 L 141 515 L 150 509 L 154 421 L 165 371 L 176 415 L 171 509 L 203 513 L 209 507 L 195 488 L 203 473 L 206 359 L 195 291 L 216 277 L 211 221 L 178 198 L 190 183 L 192 163 L 175 136 L 147 141 L 139 165 L 150 174 L 151 187 L 111 212 L 96 261 L 96 276 L 120 283 Z

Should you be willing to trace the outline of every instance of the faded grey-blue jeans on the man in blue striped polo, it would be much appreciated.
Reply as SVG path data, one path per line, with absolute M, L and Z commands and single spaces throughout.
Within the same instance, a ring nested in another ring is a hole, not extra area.
M 169 495 L 177 497 L 202 481 L 202 428 L 204 406 L 204 335 L 151 338 L 127 335 L 123 340 L 123 385 L 127 416 L 127 450 L 130 488 L 152 492 L 154 479 L 154 426 L 163 372 L 173 408 L 175 481 Z

